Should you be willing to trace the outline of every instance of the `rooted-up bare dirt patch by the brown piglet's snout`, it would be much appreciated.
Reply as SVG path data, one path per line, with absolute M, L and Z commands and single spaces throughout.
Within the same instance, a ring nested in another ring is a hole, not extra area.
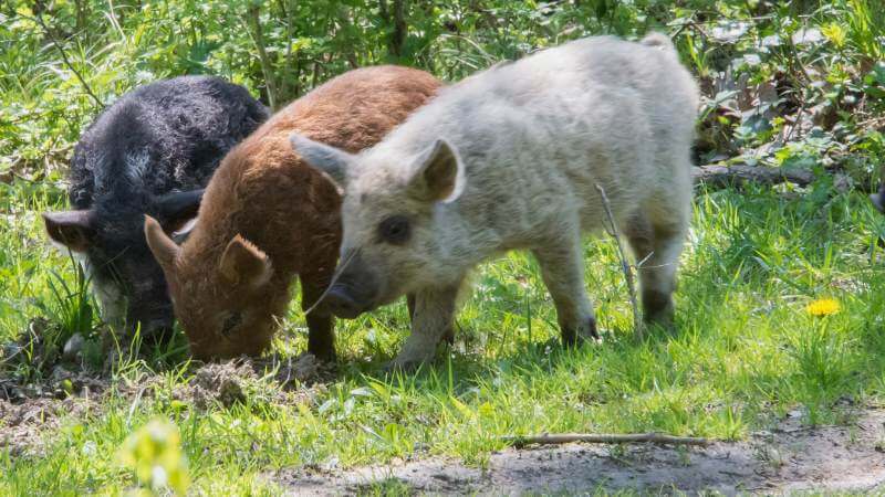
M 171 399 L 198 411 L 214 405 L 229 408 L 246 403 L 247 399 L 253 403 L 294 404 L 312 401 L 325 389 L 321 380 L 331 377 L 329 366 L 306 353 L 291 360 L 207 363 L 197 366 L 188 382 L 176 385 Z M 51 374 L 39 381 L 0 373 L 0 452 L 9 450 L 13 456 L 39 452 L 40 435 L 58 430 L 65 415 L 100 412 L 112 391 L 138 401 L 163 396 L 162 392 L 168 392 L 165 381 L 162 376 L 148 376 L 129 384 L 112 378 L 110 368 L 103 372 L 77 370 L 72 363 L 54 366 Z

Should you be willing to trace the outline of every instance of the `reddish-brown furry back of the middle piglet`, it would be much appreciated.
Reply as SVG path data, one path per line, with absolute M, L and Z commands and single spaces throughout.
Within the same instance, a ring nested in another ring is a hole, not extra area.
M 288 212 L 289 222 L 310 222 L 327 213 L 337 219 L 336 189 L 298 157 L 290 135 L 299 133 L 357 152 L 377 144 L 416 107 L 433 98 L 439 87 L 440 82 L 424 71 L 382 65 L 345 73 L 289 104 L 222 161 L 207 188 L 199 214 L 199 224 L 214 226 L 217 240 L 200 241 L 209 233 L 195 230 L 195 244 L 221 250 L 219 244 L 236 233 L 279 239 L 267 232 L 275 228 L 267 222 L 275 215 L 271 211 Z M 311 202 L 303 202 L 304 199 Z M 306 209 L 299 220 L 291 219 L 292 202 Z M 221 226 L 227 229 L 219 230 Z

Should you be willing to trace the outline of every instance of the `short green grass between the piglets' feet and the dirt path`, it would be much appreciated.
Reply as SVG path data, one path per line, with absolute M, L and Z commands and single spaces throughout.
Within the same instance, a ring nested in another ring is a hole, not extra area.
M 3 295 L 13 296 L 2 302 L 11 309 L 0 321 L 4 339 L 51 308 L 40 303 L 55 298 L 52 272 L 74 277 L 33 215 L 54 194 L 20 187 L 9 190 L 6 208 L 22 210 L 3 218 L 10 235 L 0 240 L 2 285 L 12 290 Z M 607 332 L 601 345 L 563 350 L 537 265 L 513 253 L 478 271 L 456 347 L 416 374 L 381 372 L 405 336 L 404 305 L 339 324 L 340 377 L 312 401 L 274 401 L 262 393 L 274 385 L 260 381 L 244 404 L 200 412 L 171 400 L 191 374 L 180 360 L 122 361 L 119 390 L 153 374 L 163 380 L 138 401 L 112 393 L 101 408 L 46 431 L 45 455 L 0 455 L 0 491 L 124 490 L 134 479 L 116 451 L 157 416 L 179 427 L 191 478 L 212 495 L 274 494 L 262 475 L 333 462 L 444 454 L 482 466 L 503 447 L 503 434 L 662 431 L 741 440 L 793 409 L 809 424 L 840 422 L 837 401 L 876 401 L 885 388 L 885 221 L 861 194 L 814 189 L 798 199 L 770 189 L 698 192 L 673 331 L 632 338 L 614 243 L 591 240 L 587 282 Z M 836 299 L 841 311 L 809 315 L 806 304 L 819 297 Z M 305 345 L 295 307 L 289 338 L 277 343 L 284 355 Z

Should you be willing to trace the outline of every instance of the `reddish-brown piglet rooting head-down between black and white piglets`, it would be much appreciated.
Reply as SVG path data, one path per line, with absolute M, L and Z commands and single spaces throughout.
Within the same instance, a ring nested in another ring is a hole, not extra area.
M 292 150 L 290 135 L 357 152 L 378 142 L 439 87 L 430 74 L 397 66 L 335 77 L 277 113 L 227 155 L 183 245 L 146 218 L 147 243 L 195 357 L 261 353 L 285 313 L 295 275 L 305 310 L 330 283 L 341 243 L 341 194 Z M 306 315 L 308 351 L 327 361 L 335 359 L 332 319 L 323 309 Z

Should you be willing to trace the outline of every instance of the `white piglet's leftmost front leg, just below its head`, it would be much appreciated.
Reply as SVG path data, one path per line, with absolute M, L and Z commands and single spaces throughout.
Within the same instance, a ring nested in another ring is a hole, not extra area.
M 451 330 L 459 286 L 428 288 L 415 294 L 412 335 L 396 359 L 387 364 L 388 370 L 413 370 L 434 358 L 437 345 Z

